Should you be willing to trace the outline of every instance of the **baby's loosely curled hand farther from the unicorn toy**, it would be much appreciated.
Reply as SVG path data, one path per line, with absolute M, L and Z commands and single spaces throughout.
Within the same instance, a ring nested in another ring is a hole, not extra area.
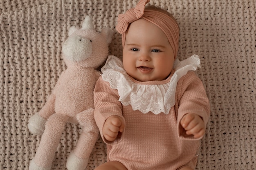
M 204 135 L 204 121 L 200 116 L 194 113 L 184 115 L 180 121 L 180 124 L 186 130 L 187 135 L 194 135 L 195 138 L 200 138 Z

